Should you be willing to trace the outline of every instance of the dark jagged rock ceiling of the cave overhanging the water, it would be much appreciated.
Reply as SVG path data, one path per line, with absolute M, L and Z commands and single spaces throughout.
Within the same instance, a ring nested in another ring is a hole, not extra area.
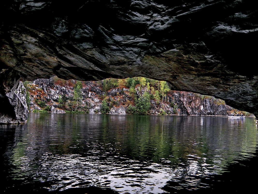
M 8 102 L 16 77 L 143 76 L 166 80 L 174 90 L 221 98 L 257 117 L 257 5 L 248 0 L 2 1 L 1 100 Z

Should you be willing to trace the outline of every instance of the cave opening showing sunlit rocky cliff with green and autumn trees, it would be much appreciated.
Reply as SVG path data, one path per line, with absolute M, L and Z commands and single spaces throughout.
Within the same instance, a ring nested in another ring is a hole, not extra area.
M 213 96 L 174 91 L 166 81 L 144 77 L 78 81 L 54 76 L 22 82 L 15 92 L 33 112 L 251 115 Z

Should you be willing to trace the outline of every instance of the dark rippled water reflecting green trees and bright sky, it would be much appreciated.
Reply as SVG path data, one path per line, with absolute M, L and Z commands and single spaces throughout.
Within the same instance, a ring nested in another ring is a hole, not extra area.
M 253 117 L 30 113 L 0 128 L 1 193 L 240 193 L 258 183 Z

